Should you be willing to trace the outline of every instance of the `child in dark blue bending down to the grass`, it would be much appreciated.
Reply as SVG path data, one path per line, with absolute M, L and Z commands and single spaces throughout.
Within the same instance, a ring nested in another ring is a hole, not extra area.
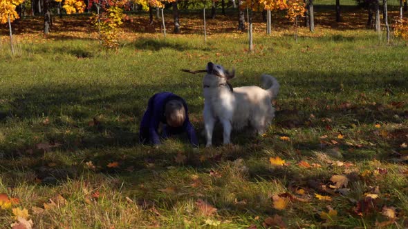
M 147 110 L 140 122 L 139 140 L 141 143 L 160 144 L 159 123 L 163 123 L 162 137 L 187 132 L 190 143 L 198 147 L 194 127 L 189 122 L 187 103 L 171 92 L 160 92 L 149 99 Z

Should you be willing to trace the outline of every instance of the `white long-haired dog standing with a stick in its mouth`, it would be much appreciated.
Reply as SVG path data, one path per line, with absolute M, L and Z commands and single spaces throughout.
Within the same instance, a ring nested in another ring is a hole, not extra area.
M 279 83 L 268 74 L 261 76 L 263 88 L 247 86 L 232 88 L 228 80 L 234 78 L 223 66 L 207 64 L 207 74 L 203 79 L 204 126 L 206 147 L 212 146 L 212 132 L 216 121 L 223 126 L 223 143 L 230 143 L 231 130 L 251 126 L 262 135 L 275 117 L 272 99 L 277 97 Z

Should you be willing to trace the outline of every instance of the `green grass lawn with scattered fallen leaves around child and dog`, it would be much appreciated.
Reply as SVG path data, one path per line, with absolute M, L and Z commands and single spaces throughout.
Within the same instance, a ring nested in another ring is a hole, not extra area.
M 368 30 L 328 29 L 310 36 L 302 29 L 299 43 L 290 32 L 258 32 L 249 54 L 246 39 L 245 33 L 214 33 L 203 43 L 198 34 L 142 34 L 106 53 L 95 40 L 21 37 L 21 56 L 12 58 L 3 42 L 0 193 L 19 198 L 36 228 L 199 228 L 207 219 L 221 221 L 220 228 L 248 228 L 261 227 L 275 214 L 290 228 L 372 228 L 387 220 L 382 206 L 399 212 L 390 227 L 406 227 L 408 168 L 398 155 L 407 153 L 400 145 L 408 143 L 406 43 L 387 46 Z M 217 132 L 214 148 L 203 148 L 202 75 L 180 69 L 202 69 L 208 61 L 235 67 L 233 86 L 259 85 L 263 72 L 277 77 L 276 119 L 265 137 L 233 133 L 234 144 L 221 146 Z M 158 149 L 138 144 L 147 100 L 160 91 L 187 100 L 198 152 L 185 137 Z M 93 118 L 100 123 L 92 125 Z M 39 143 L 50 148 L 39 149 Z M 179 153 L 187 157 L 184 163 L 176 162 Z M 277 156 L 290 164 L 271 166 L 269 158 Z M 301 168 L 302 160 L 322 167 Z M 120 166 L 108 168 L 113 161 Z M 378 168 L 387 174 L 376 174 Z M 331 195 L 313 185 L 330 183 L 332 175 L 349 177 L 349 194 Z M 360 217 L 353 208 L 372 186 L 380 188 L 378 209 Z M 272 208 L 272 195 L 294 194 L 298 187 L 306 190 L 307 201 Z M 315 193 L 333 201 L 319 201 Z M 33 210 L 56 195 L 67 203 Z M 216 214 L 202 215 L 198 199 L 217 208 Z M 326 223 L 319 212 L 328 205 L 338 215 Z M 0 213 L 0 228 L 7 228 L 14 221 L 11 210 Z

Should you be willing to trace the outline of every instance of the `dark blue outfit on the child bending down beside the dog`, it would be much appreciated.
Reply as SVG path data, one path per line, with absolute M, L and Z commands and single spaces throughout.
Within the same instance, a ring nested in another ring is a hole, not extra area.
M 185 121 L 183 125 L 178 128 L 168 126 L 165 117 L 165 104 L 167 101 L 173 99 L 181 101 L 185 108 Z M 182 132 L 187 132 L 190 143 L 192 143 L 194 147 L 198 147 L 194 127 L 188 119 L 187 103 L 185 103 L 183 98 L 171 92 L 160 92 L 154 94 L 154 96 L 149 99 L 147 110 L 145 115 L 143 115 L 142 121 L 140 122 L 139 140 L 141 143 L 151 142 L 154 145 L 160 143 L 160 137 L 158 135 L 158 126 L 160 122 L 165 124 L 162 132 L 163 138 L 167 138 L 170 135 L 180 134 Z

